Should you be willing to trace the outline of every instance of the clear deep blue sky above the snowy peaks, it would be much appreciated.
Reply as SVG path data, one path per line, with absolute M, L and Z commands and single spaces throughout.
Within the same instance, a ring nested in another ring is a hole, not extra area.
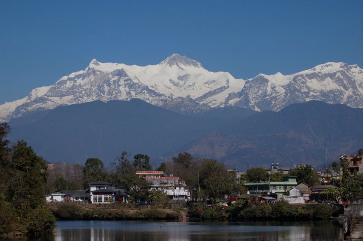
M 0 2 L 0 104 L 92 58 L 145 66 L 172 53 L 243 79 L 363 68 L 363 1 Z

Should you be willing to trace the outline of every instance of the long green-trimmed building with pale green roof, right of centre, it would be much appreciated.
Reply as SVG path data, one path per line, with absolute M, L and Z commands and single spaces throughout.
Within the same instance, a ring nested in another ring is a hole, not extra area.
M 249 194 L 283 194 L 296 187 L 296 176 L 285 177 L 283 182 L 245 183 Z

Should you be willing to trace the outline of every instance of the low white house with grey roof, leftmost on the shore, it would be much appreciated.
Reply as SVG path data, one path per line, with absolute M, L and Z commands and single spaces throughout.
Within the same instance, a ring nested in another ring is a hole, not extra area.
M 88 202 L 90 198 L 89 190 L 57 191 L 46 197 L 47 202 Z

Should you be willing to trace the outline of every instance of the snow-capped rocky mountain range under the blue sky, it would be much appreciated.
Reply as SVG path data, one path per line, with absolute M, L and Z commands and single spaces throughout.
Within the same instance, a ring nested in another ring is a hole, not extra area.
M 179 112 L 223 106 L 277 111 L 309 100 L 363 107 L 363 70 L 356 65 L 327 63 L 292 75 L 260 74 L 245 81 L 227 72 L 210 72 L 178 54 L 145 67 L 92 59 L 85 70 L 0 105 L 0 122 L 61 105 L 132 98 Z

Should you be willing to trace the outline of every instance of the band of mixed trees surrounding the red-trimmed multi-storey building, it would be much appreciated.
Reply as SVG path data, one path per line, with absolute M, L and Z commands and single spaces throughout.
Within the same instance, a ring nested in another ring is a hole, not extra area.
M 131 155 L 124 151 L 112 162 L 112 170 L 104 167 L 102 160 L 89 158 L 85 164 L 56 164 L 49 170 L 46 183 L 48 193 L 56 190 L 87 189 L 88 183 L 103 180 L 117 188 L 123 188 L 137 200 L 152 202 L 167 201 L 162 192 L 150 191 L 144 178 L 135 175 L 135 171 L 153 170 L 150 158 L 145 154 Z M 179 153 L 172 161 L 160 164 L 155 170 L 162 170 L 166 175 L 173 174 L 184 180 L 192 197 L 200 199 L 218 199 L 224 195 L 237 195 L 241 190 L 234 172 L 228 172 L 224 164 L 214 159 L 196 158 L 189 153 Z

